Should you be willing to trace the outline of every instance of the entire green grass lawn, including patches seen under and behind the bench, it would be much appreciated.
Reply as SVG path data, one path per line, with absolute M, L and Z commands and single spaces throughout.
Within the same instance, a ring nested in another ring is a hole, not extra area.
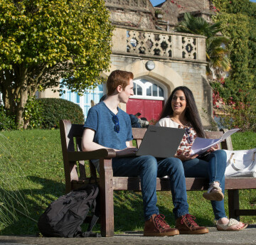
M 63 160 L 59 130 L 4 131 L 0 133 L 0 217 L 14 205 L 16 217 L 9 215 L 1 220 L 1 235 L 36 234 L 36 221 L 50 202 L 63 195 L 65 190 Z M 251 132 L 233 134 L 235 150 L 256 148 L 256 134 Z M 240 191 L 240 207 L 255 207 L 256 190 Z M 11 194 L 11 199 L 7 196 Z M 188 192 L 188 204 L 198 224 L 214 225 L 210 202 L 203 192 Z M 174 227 L 173 205 L 170 192 L 158 192 L 158 207 L 166 221 Z M 2 199 L 2 200 L 1 200 Z M 226 210 L 228 200 L 225 197 Z M 144 226 L 142 195 L 140 192 L 114 192 L 115 232 L 142 231 Z M 23 214 L 21 214 L 20 211 Z M 227 213 L 228 214 L 228 213 Z M 11 220 L 10 220 L 11 219 Z M 256 217 L 242 217 L 242 222 L 256 223 Z M 100 227 L 96 227 L 96 230 Z

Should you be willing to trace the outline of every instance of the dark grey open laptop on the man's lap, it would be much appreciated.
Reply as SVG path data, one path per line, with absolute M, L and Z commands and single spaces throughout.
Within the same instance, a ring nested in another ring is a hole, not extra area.
M 129 156 L 174 157 L 184 134 L 185 129 L 149 125 L 137 153 Z

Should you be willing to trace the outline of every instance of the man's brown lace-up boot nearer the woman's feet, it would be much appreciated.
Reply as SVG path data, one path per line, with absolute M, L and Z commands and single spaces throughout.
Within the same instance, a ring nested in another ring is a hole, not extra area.
M 209 230 L 206 227 L 199 227 L 194 221 L 196 217 L 191 214 L 184 214 L 178 219 L 176 219 L 175 228 L 178 229 L 180 234 L 205 234 Z

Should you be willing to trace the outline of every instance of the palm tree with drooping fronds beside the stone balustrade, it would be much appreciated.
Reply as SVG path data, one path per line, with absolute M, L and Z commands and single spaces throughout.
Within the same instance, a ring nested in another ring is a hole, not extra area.
M 220 36 L 221 23 L 208 23 L 204 18 L 194 17 L 190 13 L 184 13 L 183 21 L 176 26 L 176 31 L 182 33 L 192 33 L 196 35 L 206 36 L 206 60 L 209 62 L 207 66 L 208 75 L 221 75 L 230 67 L 228 60 L 229 39 Z

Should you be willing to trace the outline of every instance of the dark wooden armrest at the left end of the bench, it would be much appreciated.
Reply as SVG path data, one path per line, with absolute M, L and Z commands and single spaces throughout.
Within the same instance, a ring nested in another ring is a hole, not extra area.
M 68 160 L 91 160 L 100 158 L 115 158 L 116 152 L 113 149 L 99 149 L 95 151 L 68 151 Z

